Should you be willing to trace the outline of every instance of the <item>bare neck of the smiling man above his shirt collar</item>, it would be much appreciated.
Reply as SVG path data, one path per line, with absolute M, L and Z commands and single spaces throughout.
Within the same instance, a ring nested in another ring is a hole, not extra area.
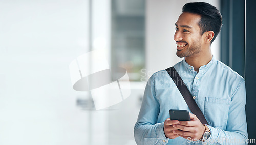
M 210 48 L 206 52 L 201 51 L 198 54 L 185 57 L 186 62 L 190 66 L 193 66 L 195 71 L 199 71 L 199 68 L 201 66 L 208 64 L 211 61 L 211 59 L 212 53 L 210 51 Z

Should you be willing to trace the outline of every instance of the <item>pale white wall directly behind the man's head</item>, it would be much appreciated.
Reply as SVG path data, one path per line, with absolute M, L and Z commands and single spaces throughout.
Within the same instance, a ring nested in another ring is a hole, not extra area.
M 176 56 L 175 23 L 183 5 L 195 1 L 147 0 L 146 2 L 146 69 L 150 76 L 182 60 Z M 220 1 L 202 2 L 208 2 L 220 10 Z M 220 59 L 220 34 L 212 43 L 211 51 L 217 59 Z

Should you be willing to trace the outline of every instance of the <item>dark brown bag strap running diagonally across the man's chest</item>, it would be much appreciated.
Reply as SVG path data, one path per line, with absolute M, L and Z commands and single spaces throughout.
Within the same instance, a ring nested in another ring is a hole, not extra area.
M 166 71 L 170 75 L 170 77 L 173 79 L 174 83 L 177 85 L 177 88 L 179 89 L 181 95 L 183 96 L 184 100 L 187 103 L 187 106 L 191 110 L 193 114 L 197 116 L 197 118 L 201 121 L 202 124 L 207 124 L 204 114 L 198 107 L 196 101 L 192 98 L 192 95 L 190 94 L 189 90 L 187 89 L 186 84 L 181 79 L 178 72 L 175 70 L 174 67 L 167 68 Z

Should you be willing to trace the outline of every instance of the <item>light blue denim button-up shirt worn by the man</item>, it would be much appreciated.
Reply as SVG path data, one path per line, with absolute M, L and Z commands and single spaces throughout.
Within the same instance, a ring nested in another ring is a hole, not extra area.
M 212 60 L 194 71 L 185 59 L 174 68 L 203 112 L 211 135 L 205 142 L 182 137 L 166 139 L 164 121 L 169 109 L 189 110 L 177 86 L 165 70 L 147 82 L 138 120 L 134 127 L 137 144 L 247 144 L 244 79 L 222 62 Z M 232 142 L 233 141 L 233 142 Z

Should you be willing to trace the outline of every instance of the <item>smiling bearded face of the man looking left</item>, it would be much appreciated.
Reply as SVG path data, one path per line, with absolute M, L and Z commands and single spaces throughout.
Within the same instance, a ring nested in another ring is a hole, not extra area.
M 200 15 L 184 12 L 175 23 L 174 40 L 178 57 L 193 56 L 201 51 L 202 36 L 198 25 L 200 19 Z

